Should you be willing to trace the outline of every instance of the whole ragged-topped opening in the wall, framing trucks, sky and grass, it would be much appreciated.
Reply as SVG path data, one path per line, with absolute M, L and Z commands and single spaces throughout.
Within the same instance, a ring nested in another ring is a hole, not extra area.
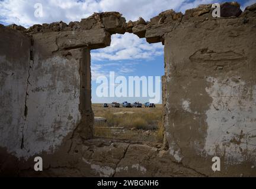
M 94 138 L 162 143 L 161 43 L 116 34 L 110 47 L 91 51 Z

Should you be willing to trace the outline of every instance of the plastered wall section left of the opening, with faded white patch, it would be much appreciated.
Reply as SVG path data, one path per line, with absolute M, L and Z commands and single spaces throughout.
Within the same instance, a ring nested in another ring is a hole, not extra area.
M 55 33 L 0 32 L 1 173 L 16 175 L 77 133 L 92 137 L 90 54 L 88 48 L 58 51 Z

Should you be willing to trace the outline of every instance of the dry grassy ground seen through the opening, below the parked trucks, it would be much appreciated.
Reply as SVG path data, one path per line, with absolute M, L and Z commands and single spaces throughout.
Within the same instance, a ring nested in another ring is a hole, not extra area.
M 95 117 L 106 119 L 106 122 L 95 120 L 95 137 L 162 142 L 162 105 L 155 108 L 116 108 L 93 104 L 92 110 Z

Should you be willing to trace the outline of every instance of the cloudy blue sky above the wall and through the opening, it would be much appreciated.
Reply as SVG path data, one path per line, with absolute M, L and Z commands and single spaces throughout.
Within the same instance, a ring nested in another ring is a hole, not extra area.
M 219 0 L 0 0 L 0 24 L 17 24 L 28 28 L 33 24 L 55 21 L 81 21 L 94 12 L 118 11 L 127 21 L 139 17 L 149 20 L 167 9 L 183 12 L 200 4 L 225 2 Z M 238 0 L 241 9 L 256 3 L 256 0 Z M 34 17 L 34 5 L 43 5 L 43 17 Z M 96 95 L 98 76 L 108 76 L 115 71 L 119 76 L 162 76 L 164 75 L 164 47 L 161 43 L 148 44 L 133 34 L 112 35 L 111 46 L 91 51 L 92 102 L 110 103 L 147 102 L 148 97 L 100 98 Z M 161 102 L 159 102 L 161 103 Z

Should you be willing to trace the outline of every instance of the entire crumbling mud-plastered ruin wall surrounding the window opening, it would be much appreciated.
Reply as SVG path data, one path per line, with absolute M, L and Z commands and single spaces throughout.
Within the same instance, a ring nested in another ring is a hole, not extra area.
M 0 25 L 0 175 L 255 177 L 256 4 L 221 8 L 222 18 L 200 5 L 150 22 L 104 12 L 69 24 Z M 124 32 L 165 45 L 162 146 L 92 139 L 89 51 Z M 36 156 L 43 172 L 33 170 Z

